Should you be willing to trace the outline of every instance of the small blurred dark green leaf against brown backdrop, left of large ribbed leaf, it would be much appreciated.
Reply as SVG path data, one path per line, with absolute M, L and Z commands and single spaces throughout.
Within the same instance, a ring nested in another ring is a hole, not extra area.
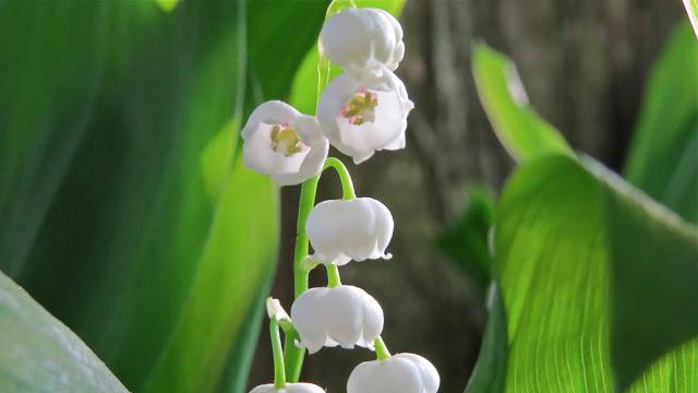
M 492 281 L 489 234 L 494 221 L 494 192 L 484 186 L 471 187 L 458 221 L 436 239 L 438 249 L 469 274 L 481 288 Z

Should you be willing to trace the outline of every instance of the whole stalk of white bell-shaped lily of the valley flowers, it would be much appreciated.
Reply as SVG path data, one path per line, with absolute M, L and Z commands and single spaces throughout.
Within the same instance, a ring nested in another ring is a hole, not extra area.
M 294 272 L 305 278 L 300 291 L 296 286 L 290 317 L 278 300 L 267 300 L 275 381 L 256 386 L 252 393 L 323 392 L 314 384 L 287 382 L 279 329 L 287 340 L 294 340 L 297 348 L 310 354 L 333 346 L 375 350 L 376 360 L 360 364 L 349 377 L 349 393 L 435 393 L 440 379 L 434 366 L 413 354 L 390 356 L 381 337 L 381 305 L 365 290 L 340 282 L 339 266 L 392 258 L 386 249 L 394 223 L 383 203 L 356 198 L 344 165 L 327 158 L 329 144 L 351 156 L 354 164 L 377 151 L 405 147 L 407 116 L 413 104 L 405 84 L 393 73 L 405 55 L 402 29 L 383 10 L 346 9 L 326 20 L 320 49 L 345 72 L 320 96 L 316 117 L 273 100 L 260 105 L 242 130 L 248 167 L 274 177 L 280 186 L 303 182 L 303 190 L 313 187 L 314 195 L 317 181 L 306 180 L 334 166 L 345 191 L 342 200 L 321 202 L 306 215 L 301 201 L 299 239 L 305 245 L 310 241 L 314 252 L 294 261 Z M 328 284 L 308 288 L 308 272 L 317 265 L 327 270 Z M 297 376 L 291 380 L 297 381 Z

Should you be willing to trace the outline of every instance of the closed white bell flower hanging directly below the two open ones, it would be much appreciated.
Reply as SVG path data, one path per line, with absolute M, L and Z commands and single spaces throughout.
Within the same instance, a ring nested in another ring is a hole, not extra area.
M 320 263 L 389 259 L 385 249 L 393 237 L 393 215 L 372 198 L 328 200 L 315 205 L 305 222 L 305 231 Z

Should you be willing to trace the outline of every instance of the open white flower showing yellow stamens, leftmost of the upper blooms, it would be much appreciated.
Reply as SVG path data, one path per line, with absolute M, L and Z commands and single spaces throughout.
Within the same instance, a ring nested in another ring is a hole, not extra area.
M 329 148 L 314 117 L 279 100 L 254 109 L 242 139 L 244 165 L 270 175 L 280 186 L 298 184 L 317 175 Z

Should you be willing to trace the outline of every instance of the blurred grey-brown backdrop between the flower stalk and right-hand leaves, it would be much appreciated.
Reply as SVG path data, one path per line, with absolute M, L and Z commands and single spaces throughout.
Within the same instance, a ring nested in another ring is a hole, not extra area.
M 485 41 L 512 57 L 531 104 L 571 146 L 621 170 L 651 67 L 676 23 L 678 1 L 410 0 L 400 17 L 407 51 L 397 74 L 416 109 L 407 148 L 378 153 L 351 167 L 357 192 L 393 212 L 390 261 L 351 264 L 342 282 L 382 303 L 393 350 L 423 354 L 442 376 L 443 392 L 461 392 L 476 362 L 486 319 L 486 291 L 435 247 L 482 183 L 495 191 L 515 164 L 482 109 L 471 71 L 471 45 Z M 332 152 L 330 152 L 332 154 Z M 335 151 L 335 156 L 341 157 Z M 350 160 L 341 157 L 345 163 Z M 321 198 L 337 198 L 332 175 Z M 298 189 L 282 191 L 282 248 L 274 295 L 290 305 L 290 261 Z M 317 273 L 316 284 L 324 283 Z M 264 337 L 265 338 L 265 337 Z M 270 367 L 266 340 L 252 381 Z M 330 392 L 368 352 L 322 350 L 303 374 Z

